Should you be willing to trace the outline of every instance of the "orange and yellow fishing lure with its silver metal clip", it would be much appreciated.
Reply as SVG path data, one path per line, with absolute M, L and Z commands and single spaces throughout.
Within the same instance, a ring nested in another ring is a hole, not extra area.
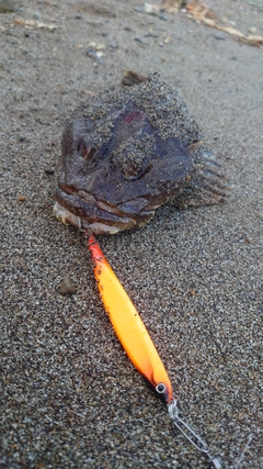
M 136 308 L 112 270 L 94 235 L 85 231 L 85 238 L 102 302 L 130 361 L 167 404 L 169 415 L 180 432 L 196 449 L 207 455 L 216 469 L 220 469 L 219 460 L 209 454 L 205 442 L 179 416 L 178 401 L 173 398 L 167 370 Z

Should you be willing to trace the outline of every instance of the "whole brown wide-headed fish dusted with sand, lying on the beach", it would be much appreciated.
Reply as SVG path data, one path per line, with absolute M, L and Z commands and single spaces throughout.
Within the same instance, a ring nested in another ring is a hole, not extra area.
M 225 169 L 173 87 L 153 75 L 102 91 L 67 120 L 55 215 L 94 234 L 148 223 L 165 203 L 219 203 Z

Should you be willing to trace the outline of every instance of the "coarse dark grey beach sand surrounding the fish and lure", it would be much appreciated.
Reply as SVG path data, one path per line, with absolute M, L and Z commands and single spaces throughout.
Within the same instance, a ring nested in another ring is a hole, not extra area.
M 100 237 L 101 246 L 168 368 L 182 416 L 225 468 L 262 468 L 263 52 L 219 40 L 185 13 L 145 14 L 136 1 L 18 3 L 0 15 L 0 467 L 209 467 L 122 350 L 81 233 L 53 216 L 65 118 L 89 93 L 119 89 L 130 68 L 158 71 L 178 89 L 232 191 L 218 206 L 161 208 L 144 228 Z M 262 34 L 261 2 L 214 4 L 242 32 Z M 57 29 L 14 25 L 18 16 Z M 102 63 L 87 55 L 91 42 L 105 45 Z M 73 295 L 58 292 L 65 273 Z

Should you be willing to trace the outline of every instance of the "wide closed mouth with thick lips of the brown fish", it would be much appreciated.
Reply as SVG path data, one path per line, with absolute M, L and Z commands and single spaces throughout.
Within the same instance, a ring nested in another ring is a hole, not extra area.
M 156 209 L 149 210 L 149 201 L 144 198 L 113 206 L 88 191 L 66 186 L 56 188 L 55 200 L 54 213 L 59 221 L 78 230 L 90 228 L 94 234 L 115 234 L 141 226 L 155 215 Z

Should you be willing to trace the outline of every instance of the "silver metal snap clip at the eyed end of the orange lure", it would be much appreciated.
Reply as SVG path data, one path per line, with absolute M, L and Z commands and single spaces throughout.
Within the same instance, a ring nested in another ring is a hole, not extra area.
M 208 451 L 208 448 L 205 442 L 197 435 L 187 424 L 179 416 L 179 407 L 178 401 L 175 399 L 172 400 L 170 404 L 168 404 L 168 412 L 170 418 L 173 421 L 174 425 L 180 429 L 180 432 L 187 438 L 187 440 L 199 451 L 204 453 L 209 461 L 215 466 L 216 469 L 221 469 L 221 465 L 217 458 L 211 456 Z

